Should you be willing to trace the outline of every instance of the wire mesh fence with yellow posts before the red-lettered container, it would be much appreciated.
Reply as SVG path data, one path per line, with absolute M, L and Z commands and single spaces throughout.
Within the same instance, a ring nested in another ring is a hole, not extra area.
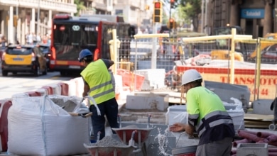
M 251 101 L 275 98 L 277 40 L 252 39 L 251 35 L 217 35 L 183 40 L 124 39 L 124 42 L 129 46 L 119 48 L 118 68 L 141 73 L 153 69 L 154 60 L 155 69 L 165 71 L 164 77 L 156 77 L 156 80 L 163 79 L 168 89 L 180 91 L 183 72 L 197 69 L 208 81 L 246 85 Z M 156 50 L 155 56 L 153 50 Z

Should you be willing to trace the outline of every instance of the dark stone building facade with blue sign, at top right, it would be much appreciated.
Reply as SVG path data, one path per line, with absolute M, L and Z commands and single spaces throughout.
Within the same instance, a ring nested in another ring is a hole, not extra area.
M 206 0 L 207 1 L 207 0 Z M 277 4 L 275 0 L 208 0 L 207 26 L 211 29 L 241 26 L 244 33 L 254 38 L 275 33 Z

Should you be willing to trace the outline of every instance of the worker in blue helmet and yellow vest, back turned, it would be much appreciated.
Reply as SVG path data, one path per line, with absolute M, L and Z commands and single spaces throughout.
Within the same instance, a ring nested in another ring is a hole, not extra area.
M 84 79 L 82 96 L 92 96 L 101 112 L 101 115 L 98 116 L 96 106 L 92 101 L 89 101 L 89 110 L 92 111 L 93 133 L 94 136 L 97 136 L 97 133 L 101 132 L 99 137 L 101 140 L 105 136 L 105 115 L 111 128 L 119 128 L 117 122 L 118 104 L 112 86 L 112 77 L 108 71 L 109 67 L 114 65 L 114 61 L 105 59 L 94 61 L 92 52 L 87 49 L 81 50 L 78 60 L 85 66 L 81 72 Z M 112 132 L 115 133 L 114 130 Z

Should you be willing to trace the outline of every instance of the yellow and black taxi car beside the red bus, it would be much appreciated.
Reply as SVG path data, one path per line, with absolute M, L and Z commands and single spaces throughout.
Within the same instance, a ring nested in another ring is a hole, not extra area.
M 2 75 L 9 72 L 31 72 L 35 76 L 47 74 L 46 59 L 36 45 L 9 45 L 2 55 Z

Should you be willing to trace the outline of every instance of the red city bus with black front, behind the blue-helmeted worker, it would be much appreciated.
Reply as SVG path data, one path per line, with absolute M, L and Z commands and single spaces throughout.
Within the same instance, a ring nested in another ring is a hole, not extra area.
M 94 53 L 94 60 L 111 59 L 109 40 L 112 40 L 112 30 L 116 28 L 116 22 L 100 17 L 55 15 L 50 43 L 50 69 L 60 72 L 62 76 L 80 73 L 84 67 L 77 58 L 85 48 Z M 124 29 L 129 32 L 129 27 Z M 121 35 L 120 31 L 117 33 Z

